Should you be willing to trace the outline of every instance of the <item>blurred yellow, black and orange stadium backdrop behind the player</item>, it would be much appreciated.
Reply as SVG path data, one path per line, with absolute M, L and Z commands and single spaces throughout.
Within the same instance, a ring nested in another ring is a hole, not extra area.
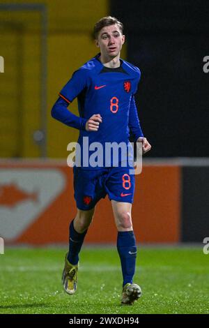
M 209 56 L 208 1 L 1 0 L 0 237 L 5 251 L 11 245 L 68 242 L 75 201 L 67 144 L 78 132 L 52 119 L 50 110 L 73 71 L 97 53 L 92 29 L 104 15 L 123 22 L 127 40 L 121 57 L 141 69 L 137 106 L 153 146 L 136 177 L 137 242 L 203 246 L 209 237 L 209 73 L 203 72 L 203 57 Z M 77 101 L 70 110 L 77 113 Z M 105 199 L 86 244 L 115 243 L 111 204 Z

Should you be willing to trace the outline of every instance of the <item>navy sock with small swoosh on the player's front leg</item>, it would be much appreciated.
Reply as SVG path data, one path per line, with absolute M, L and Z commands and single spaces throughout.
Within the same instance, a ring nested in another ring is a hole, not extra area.
M 123 273 L 123 286 L 132 283 L 135 272 L 137 246 L 133 231 L 118 231 L 117 239 L 118 254 L 121 258 Z

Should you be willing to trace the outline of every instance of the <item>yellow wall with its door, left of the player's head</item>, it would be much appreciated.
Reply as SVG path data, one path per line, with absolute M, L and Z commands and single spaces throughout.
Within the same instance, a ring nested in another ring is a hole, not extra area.
M 47 156 L 66 158 L 67 144 L 77 140 L 78 131 L 52 119 L 50 111 L 73 71 L 98 52 L 92 29 L 100 17 L 109 14 L 108 0 L 4 0 L 1 3 L 47 5 Z M 1 157 L 40 156 L 40 147 L 33 142 L 33 132 L 40 128 L 40 22 L 37 12 L 0 10 L 0 55 L 5 59 L 5 73 L 0 75 L 0 110 L 5 113 L 3 126 L 8 131 L 6 134 L 0 131 Z M 8 31 L 4 28 L 6 23 Z M 19 62 L 14 61 L 11 47 L 15 44 L 13 47 L 17 48 L 17 40 L 23 56 Z M 20 100 L 15 103 L 17 99 Z M 77 100 L 70 110 L 77 114 Z

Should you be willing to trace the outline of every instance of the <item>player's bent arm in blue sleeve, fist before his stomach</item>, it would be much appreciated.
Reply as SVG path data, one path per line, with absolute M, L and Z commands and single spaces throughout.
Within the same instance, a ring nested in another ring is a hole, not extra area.
M 88 71 L 85 69 L 75 71 L 71 79 L 59 93 L 59 98 L 52 107 L 52 117 L 78 130 L 98 131 L 99 125 L 102 122 L 100 114 L 94 114 L 89 119 L 86 119 L 84 117 L 77 117 L 68 110 L 68 105 L 86 87 L 88 87 Z

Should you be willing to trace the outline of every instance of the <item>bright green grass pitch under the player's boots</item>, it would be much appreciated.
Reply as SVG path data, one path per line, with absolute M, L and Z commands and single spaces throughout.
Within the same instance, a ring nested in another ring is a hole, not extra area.
M 6 248 L 0 313 L 209 313 L 209 255 L 201 247 L 138 247 L 134 282 L 143 295 L 121 306 L 116 248 L 84 247 L 75 295 L 61 285 L 63 248 Z

